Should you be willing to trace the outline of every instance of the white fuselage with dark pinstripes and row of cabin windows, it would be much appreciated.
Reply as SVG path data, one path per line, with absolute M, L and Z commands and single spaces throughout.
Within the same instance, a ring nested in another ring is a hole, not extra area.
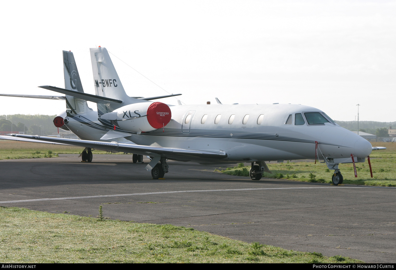
M 170 106 L 170 109 L 172 118 L 164 130 L 138 134 L 117 129 L 118 132 L 126 133 L 126 136 L 103 141 L 191 150 L 223 150 L 227 153 L 223 161 L 242 162 L 314 159 L 315 141 L 318 141 L 320 159 L 350 157 L 351 154 L 364 158 L 371 153 L 372 146 L 368 141 L 337 124 L 308 125 L 305 118 L 305 124 L 295 125 L 296 113 L 321 112 L 305 105 L 180 105 Z M 205 114 L 206 120 L 202 121 Z M 234 120 L 229 124 L 233 114 Z M 249 116 L 244 123 L 247 114 Z M 285 124 L 290 114 L 291 124 Z M 260 115 L 263 115 L 262 121 L 258 124 Z M 80 139 L 100 141 L 111 127 L 104 126 L 97 118 L 97 112 L 91 111 L 69 117 L 66 126 Z

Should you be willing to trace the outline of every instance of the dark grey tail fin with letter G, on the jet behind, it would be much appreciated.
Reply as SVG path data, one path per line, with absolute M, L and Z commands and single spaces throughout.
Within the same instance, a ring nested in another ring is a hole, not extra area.
M 65 89 L 84 93 L 74 55 L 70 51 L 63 51 L 63 71 Z M 68 95 L 66 95 L 66 108 L 69 113 L 73 114 L 80 114 L 91 110 L 88 107 L 87 101 Z

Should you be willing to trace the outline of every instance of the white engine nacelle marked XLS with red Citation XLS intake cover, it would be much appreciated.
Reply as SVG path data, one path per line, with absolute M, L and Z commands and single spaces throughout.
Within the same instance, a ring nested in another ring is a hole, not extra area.
M 141 102 L 121 107 L 101 116 L 116 121 L 116 126 L 132 132 L 147 132 L 166 126 L 171 120 L 171 109 L 162 102 Z

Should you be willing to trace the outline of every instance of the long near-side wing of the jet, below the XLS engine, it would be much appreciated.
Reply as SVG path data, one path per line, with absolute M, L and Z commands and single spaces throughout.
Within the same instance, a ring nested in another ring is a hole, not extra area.
M 190 150 L 182 148 L 168 148 L 158 146 L 147 146 L 138 144 L 126 144 L 118 142 L 101 142 L 101 141 L 88 141 L 88 140 L 76 140 L 76 139 L 65 139 L 65 138 L 54 138 L 44 137 L 38 135 L 23 135 L 23 134 L 8 134 L 14 138 L 30 139 L 38 142 L 55 142 L 61 144 L 70 144 L 75 146 L 99 148 L 108 151 L 118 151 L 133 153 L 143 156 L 154 156 L 154 157 L 167 157 L 170 159 L 193 159 L 198 158 L 210 158 L 210 159 L 223 159 L 227 157 L 226 152 L 218 151 L 201 151 L 201 150 Z M 6 137 L 6 136 L 4 136 Z

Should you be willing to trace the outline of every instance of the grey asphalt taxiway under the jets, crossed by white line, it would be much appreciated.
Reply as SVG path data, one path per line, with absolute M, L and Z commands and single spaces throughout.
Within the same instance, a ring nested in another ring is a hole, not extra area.
M 330 186 L 169 161 L 165 180 L 131 155 L 0 161 L 0 206 L 173 224 L 298 251 L 396 262 L 396 188 Z M 147 161 L 147 160 L 145 160 Z M 224 166 L 224 165 L 222 165 Z M 318 165 L 322 166 L 322 165 Z M 330 177 L 330 176 L 329 176 Z

